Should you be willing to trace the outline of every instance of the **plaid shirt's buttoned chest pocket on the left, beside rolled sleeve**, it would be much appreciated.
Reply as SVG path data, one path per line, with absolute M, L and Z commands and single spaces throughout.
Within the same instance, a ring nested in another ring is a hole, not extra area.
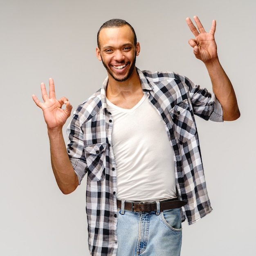
M 85 146 L 85 158 L 90 181 L 102 181 L 106 171 L 106 143 Z

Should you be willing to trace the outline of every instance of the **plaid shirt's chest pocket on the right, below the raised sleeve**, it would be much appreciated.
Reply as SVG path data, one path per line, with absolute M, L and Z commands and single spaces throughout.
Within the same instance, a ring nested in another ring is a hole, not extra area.
M 187 99 L 175 105 L 170 110 L 170 114 L 173 120 L 173 128 L 177 133 L 180 143 L 184 143 L 195 136 L 196 128 L 189 111 Z

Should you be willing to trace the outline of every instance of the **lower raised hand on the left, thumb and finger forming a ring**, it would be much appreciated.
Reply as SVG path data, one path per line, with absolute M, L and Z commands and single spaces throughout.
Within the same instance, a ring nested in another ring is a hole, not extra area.
M 36 105 L 43 110 L 43 115 L 48 129 L 62 128 L 70 116 L 72 106 L 67 98 L 62 97 L 57 100 L 55 97 L 54 81 L 49 79 L 49 97 L 45 88 L 45 83 L 41 83 L 41 92 L 44 102 L 40 102 L 36 95 L 32 95 L 32 98 Z M 63 105 L 66 108 L 61 108 Z

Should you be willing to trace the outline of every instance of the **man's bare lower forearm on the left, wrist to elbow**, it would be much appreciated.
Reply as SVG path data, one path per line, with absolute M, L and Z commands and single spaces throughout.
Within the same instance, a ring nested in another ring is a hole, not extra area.
M 48 129 L 52 170 L 58 187 L 64 194 L 73 192 L 78 186 L 78 178 L 67 154 L 62 129 Z

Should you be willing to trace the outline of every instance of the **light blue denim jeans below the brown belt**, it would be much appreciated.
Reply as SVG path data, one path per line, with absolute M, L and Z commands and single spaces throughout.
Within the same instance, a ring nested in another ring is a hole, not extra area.
M 180 256 L 180 208 L 149 213 L 119 209 L 117 238 L 117 256 Z

